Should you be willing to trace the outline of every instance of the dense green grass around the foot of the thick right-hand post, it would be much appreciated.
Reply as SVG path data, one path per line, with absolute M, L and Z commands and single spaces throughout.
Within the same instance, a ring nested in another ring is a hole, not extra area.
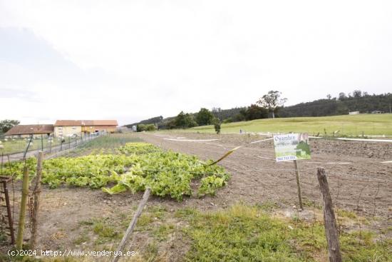
M 261 206 L 234 205 L 200 213 L 189 208 L 177 216 L 190 221 L 184 229 L 192 243 L 186 261 L 318 261 L 327 258 L 323 223 L 273 218 Z M 344 261 L 388 261 L 392 241 L 370 231 L 340 235 Z

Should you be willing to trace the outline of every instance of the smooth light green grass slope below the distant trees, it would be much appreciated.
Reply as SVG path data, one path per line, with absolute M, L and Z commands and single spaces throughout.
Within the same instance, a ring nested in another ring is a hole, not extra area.
M 392 114 L 359 114 L 344 116 L 294 117 L 285 119 L 257 119 L 230 124 L 222 124 L 222 133 L 246 132 L 258 133 L 287 133 L 308 132 L 320 133 L 321 136 L 331 136 L 339 131 L 339 136 L 392 136 Z M 197 126 L 187 131 L 200 133 L 215 132 L 214 126 Z

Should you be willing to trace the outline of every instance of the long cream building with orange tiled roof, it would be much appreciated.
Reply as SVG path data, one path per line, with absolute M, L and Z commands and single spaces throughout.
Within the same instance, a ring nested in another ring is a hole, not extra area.
M 57 120 L 54 135 L 66 137 L 81 136 L 82 133 L 113 133 L 117 126 L 117 120 Z

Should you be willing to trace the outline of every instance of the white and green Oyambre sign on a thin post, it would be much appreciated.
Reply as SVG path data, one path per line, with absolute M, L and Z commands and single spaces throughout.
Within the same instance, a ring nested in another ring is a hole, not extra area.
M 310 159 L 309 136 L 307 133 L 274 135 L 277 162 Z

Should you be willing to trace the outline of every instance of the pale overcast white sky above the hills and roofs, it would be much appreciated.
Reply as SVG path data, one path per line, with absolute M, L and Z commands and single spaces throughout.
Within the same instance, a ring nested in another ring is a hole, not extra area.
M 392 1 L 0 0 L 0 119 L 117 119 L 392 91 Z

